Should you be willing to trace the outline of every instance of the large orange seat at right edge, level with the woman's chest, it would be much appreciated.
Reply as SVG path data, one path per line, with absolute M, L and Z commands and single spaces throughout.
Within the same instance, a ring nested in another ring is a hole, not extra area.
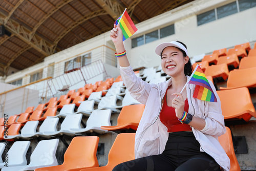
M 256 117 L 248 88 L 217 91 L 221 100 L 221 109 L 224 119 L 244 119 Z

